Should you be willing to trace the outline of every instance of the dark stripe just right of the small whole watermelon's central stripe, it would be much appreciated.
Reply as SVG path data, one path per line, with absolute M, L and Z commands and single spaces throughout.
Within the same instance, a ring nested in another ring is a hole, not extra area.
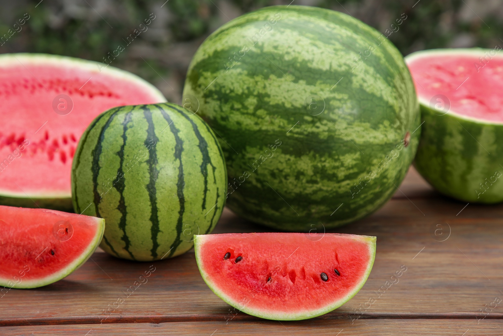
M 185 186 L 185 181 L 184 181 L 184 166 L 182 164 L 182 152 L 184 150 L 183 144 L 184 142 L 180 137 L 178 136 L 178 130 L 174 123 L 173 120 L 170 118 L 170 116 L 162 109 L 162 107 L 157 106 L 164 117 L 164 119 L 167 121 L 167 123 L 170 125 L 170 130 L 173 133 L 173 136 L 175 137 L 176 145 L 175 145 L 175 159 L 177 159 L 180 164 L 178 166 L 178 181 L 177 181 L 177 196 L 178 196 L 178 201 L 180 203 L 180 210 L 178 211 L 178 221 L 177 221 L 177 238 L 171 245 L 171 252 L 168 257 L 171 257 L 173 253 L 177 250 L 177 247 L 182 243 L 182 239 L 180 239 L 180 236 L 182 235 L 182 225 L 183 225 L 183 217 L 184 217 L 184 212 L 185 212 L 185 197 L 184 197 L 184 186 Z

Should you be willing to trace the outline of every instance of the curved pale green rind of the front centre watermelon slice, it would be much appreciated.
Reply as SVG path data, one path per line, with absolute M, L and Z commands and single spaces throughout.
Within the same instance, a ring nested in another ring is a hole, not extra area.
M 202 244 L 204 244 L 205 238 L 207 238 L 207 237 L 205 237 L 205 235 L 195 235 L 194 236 L 194 251 L 195 251 L 195 255 L 196 255 L 196 262 L 197 262 L 197 266 L 199 268 L 199 272 L 201 273 L 201 276 L 202 276 L 204 282 L 206 283 L 206 285 L 220 299 L 222 299 L 224 302 L 231 305 L 232 307 L 239 309 L 240 311 L 242 311 L 248 315 L 257 316 L 257 317 L 265 318 L 265 319 L 269 319 L 269 320 L 281 320 L 281 321 L 305 320 L 308 318 L 313 318 L 316 316 L 326 314 L 334 309 L 341 307 L 343 304 L 345 304 L 350 299 L 352 299 L 360 291 L 360 289 L 362 289 L 363 285 L 365 285 L 365 283 L 367 282 L 367 279 L 370 275 L 370 271 L 372 271 L 372 266 L 374 265 L 375 254 L 376 254 L 376 237 L 358 236 L 358 238 L 354 238 L 354 239 L 359 239 L 361 241 L 364 241 L 368 245 L 369 251 L 370 251 L 370 259 L 369 259 L 369 262 L 367 265 L 367 270 L 366 270 L 365 274 L 363 275 L 361 281 L 355 286 L 355 288 L 350 293 L 348 293 L 348 295 L 346 295 L 342 299 L 330 304 L 329 306 L 326 306 L 321 309 L 309 311 L 306 313 L 292 313 L 292 314 L 288 314 L 288 313 L 284 313 L 284 312 L 276 312 L 276 313 L 271 312 L 271 313 L 269 313 L 269 312 L 259 311 L 256 309 L 249 309 L 246 306 L 244 306 L 244 308 L 243 308 L 242 304 L 240 302 L 231 300 L 227 295 L 225 295 L 225 293 L 223 291 L 219 290 L 218 288 L 216 288 L 216 286 L 213 285 L 209 275 L 204 271 L 204 268 L 202 267 L 200 259 L 198 257 L 198 255 L 201 254 L 201 246 L 202 246 Z

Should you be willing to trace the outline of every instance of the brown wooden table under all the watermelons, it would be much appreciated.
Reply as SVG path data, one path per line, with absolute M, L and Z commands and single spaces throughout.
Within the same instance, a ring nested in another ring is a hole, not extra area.
M 282 322 L 232 315 L 193 251 L 140 263 L 100 250 L 64 280 L 0 298 L 0 335 L 503 335 L 502 216 L 500 205 L 441 196 L 411 168 L 381 210 L 334 231 L 377 236 L 377 254 L 363 289 L 331 313 Z M 270 230 L 225 210 L 214 233 L 257 231 Z

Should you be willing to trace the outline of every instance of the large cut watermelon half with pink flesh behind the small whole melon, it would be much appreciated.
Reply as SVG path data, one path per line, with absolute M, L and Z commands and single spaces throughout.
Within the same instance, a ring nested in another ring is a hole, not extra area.
M 0 100 L 0 203 L 71 209 L 71 161 L 91 121 L 115 106 L 165 98 L 141 78 L 105 63 L 3 54 Z

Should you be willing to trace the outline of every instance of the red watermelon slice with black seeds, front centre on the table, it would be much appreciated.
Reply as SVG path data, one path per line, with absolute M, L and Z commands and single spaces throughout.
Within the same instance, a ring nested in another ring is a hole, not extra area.
M 273 320 L 302 320 L 342 306 L 367 281 L 376 251 L 376 237 L 348 234 L 194 237 L 208 287 L 234 308 Z

